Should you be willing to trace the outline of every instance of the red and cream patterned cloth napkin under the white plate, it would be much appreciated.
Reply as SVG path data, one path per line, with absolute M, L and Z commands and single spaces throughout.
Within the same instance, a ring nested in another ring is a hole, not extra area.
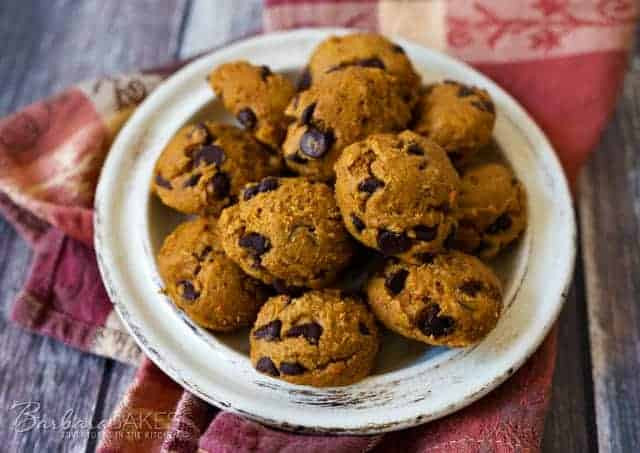
M 267 0 L 264 31 L 358 27 L 463 59 L 525 106 L 573 182 L 614 108 L 637 12 L 633 0 Z M 83 351 L 140 364 L 99 451 L 539 450 L 555 329 L 514 376 L 470 407 L 368 437 L 264 427 L 209 406 L 142 358 L 100 281 L 93 195 L 118 130 L 179 66 L 81 83 L 0 120 L 0 211 L 34 251 L 11 319 Z

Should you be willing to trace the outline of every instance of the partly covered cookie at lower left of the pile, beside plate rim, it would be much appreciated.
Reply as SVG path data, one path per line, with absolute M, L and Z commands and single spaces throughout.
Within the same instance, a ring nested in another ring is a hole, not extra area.
M 185 222 L 167 236 L 158 268 L 171 300 L 207 329 L 226 332 L 251 325 L 268 296 L 263 284 L 224 255 L 209 218 Z

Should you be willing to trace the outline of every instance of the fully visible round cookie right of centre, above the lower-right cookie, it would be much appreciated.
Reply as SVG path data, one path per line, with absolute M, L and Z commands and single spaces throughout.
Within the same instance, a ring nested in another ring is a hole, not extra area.
M 451 245 L 459 178 L 434 142 L 411 131 L 372 135 L 335 168 L 342 217 L 366 246 L 420 263 Z

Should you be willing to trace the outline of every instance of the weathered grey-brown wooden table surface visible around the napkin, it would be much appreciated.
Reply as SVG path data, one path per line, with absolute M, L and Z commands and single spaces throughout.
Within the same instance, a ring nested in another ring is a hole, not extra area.
M 152 67 L 260 28 L 259 0 L 3 0 L 0 116 L 67 85 Z M 640 36 L 640 33 L 638 34 Z M 576 208 L 580 253 L 559 322 L 545 452 L 640 451 L 640 52 Z M 7 321 L 31 252 L 0 218 L 0 450 L 93 451 L 44 423 L 13 423 L 29 403 L 38 420 L 108 418 L 134 370 L 32 335 Z M 68 415 L 67 415 L 68 416 Z

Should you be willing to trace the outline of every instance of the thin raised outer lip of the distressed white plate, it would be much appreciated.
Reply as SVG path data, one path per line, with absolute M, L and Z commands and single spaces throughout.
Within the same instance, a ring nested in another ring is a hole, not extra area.
M 229 49 L 233 49 L 234 47 L 237 47 L 237 46 L 239 47 L 239 46 L 251 45 L 251 44 L 255 44 L 262 41 L 268 41 L 271 39 L 285 38 L 285 39 L 295 40 L 295 39 L 301 39 L 305 37 L 308 38 L 309 35 L 312 35 L 313 37 L 323 37 L 323 36 L 328 36 L 330 34 L 343 34 L 343 33 L 349 33 L 354 31 L 358 31 L 358 30 L 348 29 L 348 28 L 324 27 L 324 28 L 303 28 L 303 29 L 296 29 L 292 31 L 281 31 L 281 32 L 258 35 L 258 36 L 240 40 L 240 41 L 234 41 L 233 43 L 227 46 L 223 46 L 211 52 L 208 52 L 198 57 L 194 61 L 190 62 L 189 64 L 185 65 L 176 73 L 174 73 L 173 75 L 171 75 L 170 77 L 162 81 L 162 83 L 136 109 L 132 117 L 129 118 L 124 128 L 120 131 L 120 133 L 118 134 L 118 137 L 112 144 L 111 149 L 118 148 L 118 144 L 125 141 L 124 138 L 128 134 L 130 134 L 129 130 L 133 129 L 133 124 L 135 124 L 135 121 L 132 121 L 132 119 L 144 116 L 143 114 L 145 114 L 146 112 L 145 110 L 143 110 L 143 107 L 145 105 L 150 104 L 149 102 L 150 99 L 160 96 L 164 91 L 167 91 L 173 85 L 178 84 L 178 82 L 181 79 L 185 78 L 188 74 L 190 74 L 190 72 L 193 71 L 195 67 L 202 64 L 203 60 L 210 58 L 213 54 L 224 52 Z M 186 390 L 198 395 L 202 399 L 209 401 L 210 403 L 220 407 L 223 410 L 228 410 L 228 411 L 237 413 L 239 415 L 246 416 L 248 418 L 260 421 L 267 425 L 277 426 L 282 429 L 296 431 L 296 432 L 314 432 L 314 433 L 321 432 L 321 433 L 333 433 L 333 434 L 374 434 L 374 433 L 395 431 L 395 430 L 415 426 L 418 424 L 422 424 L 422 423 L 425 423 L 426 421 L 434 420 L 442 416 L 448 415 L 452 412 L 455 412 L 457 410 L 460 410 L 466 407 L 467 405 L 471 404 L 472 402 L 478 400 L 482 396 L 486 395 L 488 392 L 490 392 L 500 384 L 502 384 L 509 376 L 511 376 L 517 369 L 519 369 L 522 366 L 522 364 L 524 364 L 526 360 L 528 360 L 528 358 L 538 349 L 538 347 L 546 338 L 549 330 L 554 325 L 560 313 L 560 310 L 562 309 L 564 301 L 567 297 L 568 287 L 571 285 L 572 277 L 573 277 L 575 257 L 577 253 L 577 248 L 576 248 L 577 228 L 576 228 L 576 221 L 575 221 L 575 212 L 573 210 L 573 205 L 571 204 L 569 186 L 568 186 L 564 171 L 562 169 L 562 166 L 560 165 L 559 158 L 553 146 L 547 139 L 544 132 L 535 123 L 535 121 L 528 115 L 528 113 L 522 108 L 522 106 L 518 103 L 518 101 L 516 101 L 509 93 L 507 93 L 499 85 L 497 85 L 497 83 L 493 82 L 488 77 L 476 71 L 468 64 L 454 57 L 451 57 L 449 55 L 446 55 L 444 53 L 438 52 L 433 49 L 426 48 L 417 43 L 410 42 L 401 37 L 391 37 L 391 38 L 394 41 L 400 43 L 401 45 L 417 46 L 423 52 L 432 54 L 433 56 L 440 58 L 441 60 L 445 60 L 448 64 L 457 65 L 461 69 L 464 69 L 464 71 L 466 72 L 473 73 L 474 76 L 482 80 L 483 83 L 485 83 L 488 86 L 491 86 L 492 89 L 499 91 L 501 95 L 504 96 L 505 99 L 509 102 L 510 112 L 509 112 L 509 115 L 507 115 L 508 118 L 514 124 L 518 125 L 518 127 L 522 123 L 526 124 L 528 134 L 533 133 L 536 136 L 536 141 L 542 145 L 540 148 L 548 160 L 547 162 L 548 165 L 552 167 L 551 170 L 555 177 L 554 182 L 559 182 L 561 184 L 561 187 L 559 187 L 559 190 L 562 193 L 563 198 L 566 198 L 568 200 L 568 205 L 565 206 L 567 208 L 567 212 L 569 213 L 569 217 L 566 219 L 568 222 L 566 226 L 569 229 L 568 234 L 571 237 L 569 238 L 569 241 L 570 241 L 569 250 L 568 250 L 569 256 L 566 258 L 566 261 L 568 262 L 568 267 L 566 269 L 565 275 L 562 278 L 563 291 L 559 295 L 557 295 L 558 300 L 553 306 L 553 309 L 554 309 L 553 313 L 551 313 L 551 316 L 549 316 L 548 318 L 549 322 L 544 326 L 542 326 L 539 331 L 537 331 L 536 338 L 527 344 L 526 351 L 520 354 L 519 360 L 513 363 L 513 367 L 509 369 L 509 372 L 503 373 L 500 376 L 496 376 L 491 380 L 491 382 L 483 386 L 480 389 L 480 391 L 477 391 L 472 395 L 466 395 L 465 397 L 460 398 L 457 404 L 447 406 L 446 408 L 440 411 L 435 411 L 435 412 L 432 411 L 429 413 L 428 416 L 421 415 L 419 417 L 416 417 L 415 415 L 411 415 L 411 416 L 407 416 L 402 420 L 396 420 L 393 423 L 367 424 L 366 426 L 361 426 L 358 429 L 351 429 L 351 428 L 345 429 L 344 426 L 340 426 L 340 425 L 329 426 L 326 424 L 323 426 L 311 427 L 307 425 L 297 425 L 295 423 L 289 423 L 283 420 L 276 420 L 273 418 L 258 415 L 253 412 L 249 412 L 243 408 L 236 407 L 233 404 L 227 401 L 224 401 L 222 399 L 216 399 L 215 398 L 216 395 L 205 393 L 202 389 L 198 388 L 198 386 L 195 386 L 193 383 L 189 382 L 186 378 L 184 378 L 181 375 L 181 373 L 179 373 L 171 364 L 167 363 L 163 357 L 163 354 L 160 351 L 155 349 L 152 345 L 148 344 L 148 340 L 146 339 L 146 336 L 141 331 L 141 327 L 140 327 L 141 323 L 138 322 L 139 320 L 133 320 L 131 318 L 131 314 L 127 309 L 127 304 L 123 300 L 121 300 L 120 297 L 118 297 L 116 288 L 114 287 L 113 281 L 110 277 L 111 270 L 109 269 L 109 266 L 106 264 L 106 261 L 104 259 L 103 252 L 107 249 L 108 243 L 105 242 L 106 235 L 103 234 L 103 230 L 102 230 L 103 226 L 105 225 L 103 221 L 102 213 L 103 211 L 106 211 L 106 208 L 104 208 L 104 206 L 107 206 L 109 204 L 109 191 L 107 190 L 107 188 L 105 188 L 106 183 L 104 182 L 105 178 L 103 178 L 103 175 L 105 174 L 105 172 L 101 172 L 101 176 L 96 188 L 96 196 L 94 200 L 94 208 L 95 208 L 94 244 L 95 244 L 96 256 L 98 259 L 100 274 L 102 276 L 103 282 L 105 283 L 105 287 L 107 289 L 109 298 L 113 302 L 114 309 L 118 313 L 118 316 L 122 319 L 123 324 L 125 325 L 127 331 L 135 339 L 135 341 L 138 343 L 141 349 L 145 352 L 147 357 L 149 357 L 163 372 L 168 374 L 174 381 L 178 382 Z M 518 121 L 514 121 L 513 119 L 514 114 L 520 117 Z M 103 169 L 110 168 L 109 163 L 110 161 L 115 160 L 114 155 L 115 153 L 113 152 L 108 153 L 107 158 L 105 159 L 105 162 L 103 165 Z

